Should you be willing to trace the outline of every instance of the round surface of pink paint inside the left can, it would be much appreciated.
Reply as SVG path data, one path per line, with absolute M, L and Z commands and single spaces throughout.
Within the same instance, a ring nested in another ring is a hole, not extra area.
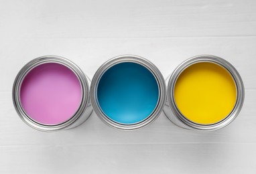
M 78 110 L 82 88 L 66 66 L 46 63 L 31 70 L 20 90 L 21 106 L 36 122 L 61 124 Z

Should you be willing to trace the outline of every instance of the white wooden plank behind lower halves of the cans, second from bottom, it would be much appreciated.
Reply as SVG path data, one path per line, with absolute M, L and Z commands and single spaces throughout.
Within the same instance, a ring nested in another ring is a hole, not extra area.
M 146 128 L 126 132 L 110 128 L 93 113 L 78 128 L 42 133 L 22 122 L 9 92 L 0 94 L 0 146 L 256 143 L 256 90 L 246 91 L 245 104 L 234 122 L 212 132 L 185 130 L 172 124 L 164 114 Z

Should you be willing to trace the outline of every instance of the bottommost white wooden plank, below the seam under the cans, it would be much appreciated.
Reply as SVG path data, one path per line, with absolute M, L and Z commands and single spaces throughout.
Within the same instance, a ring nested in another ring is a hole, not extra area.
M 255 173 L 255 145 L 8 146 L 0 147 L 0 172 Z

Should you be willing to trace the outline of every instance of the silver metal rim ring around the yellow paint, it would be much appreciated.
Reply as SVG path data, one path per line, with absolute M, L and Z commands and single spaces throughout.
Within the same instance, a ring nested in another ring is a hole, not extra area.
M 237 101 L 236 104 L 231 111 L 229 115 L 226 116 L 226 118 L 220 120 L 219 122 L 216 122 L 214 124 L 198 124 L 195 122 L 192 122 L 188 120 L 178 109 L 176 106 L 176 102 L 174 99 L 174 86 L 176 84 L 176 80 L 178 79 L 178 76 L 180 73 L 188 68 L 188 66 L 191 66 L 192 64 L 196 64 L 198 62 L 212 62 L 214 64 L 218 64 L 229 71 L 229 73 L 233 76 L 233 79 L 235 81 L 235 84 L 237 86 Z M 228 124 L 230 124 L 239 114 L 241 111 L 241 108 L 243 106 L 243 101 L 245 98 L 245 88 L 243 85 L 243 80 L 241 76 L 239 75 L 239 72 L 235 69 L 233 65 L 231 65 L 227 60 L 224 60 L 222 58 L 219 58 L 217 56 L 212 55 L 200 55 L 200 56 L 194 56 L 192 58 L 189 58 L 188 60 L 185 60 L 180 64 L 172 73 L 170 76 L 170 80 L 168 82 L 168 92 L 167 92 L 167 100 L 170 108 L 172 109 L 172 112 L 174 113 L 174 116 L 178 118 L 181 122 L 186 124 L 186 126 L 189 126 L 190 128 L 197 129 L 197 130 L 217 130 L 219 128 L 225 127 Z

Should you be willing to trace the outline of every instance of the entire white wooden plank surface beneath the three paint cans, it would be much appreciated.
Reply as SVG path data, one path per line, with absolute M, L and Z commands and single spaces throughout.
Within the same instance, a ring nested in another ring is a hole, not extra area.
M 0 0 L 0 173 L 256 173 L 256 1 Z M 124 132 L 92 114 L 42 133 L 17 116 L 11 88 L 33 58 L 57 55 L 92 78 L 109 58 L 135 54 L 166 78 L 199 54 L 225 58 L 245 84 L 241 114 L 213 132 L 164 116 Z

